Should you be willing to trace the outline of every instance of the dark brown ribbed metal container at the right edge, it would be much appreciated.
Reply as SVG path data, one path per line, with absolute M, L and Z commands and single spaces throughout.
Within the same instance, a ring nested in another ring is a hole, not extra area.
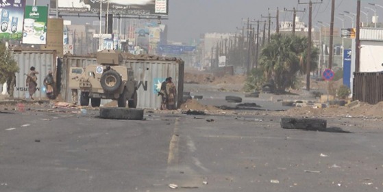
M 383 101 L 383 73 L 355 72 L 353 100 L 360 100 L 375 105 Z

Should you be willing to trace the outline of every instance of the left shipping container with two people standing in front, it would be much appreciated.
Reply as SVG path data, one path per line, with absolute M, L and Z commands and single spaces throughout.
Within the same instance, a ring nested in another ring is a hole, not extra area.
M 45 87 L 43 80 L 49 70 L 55 71 L 56 52 L 55 51 L 13 51 L 14 59 L 18 64 L 20 71 L 16 73 L 16 87 L 14 87 L 14 98 L 26 99 L 29 98 L 28 87 L 26 85 L 29 68 L 34 66 L 37 75 L 37 90 L 34 94 L 35 100 L 46 99 Z

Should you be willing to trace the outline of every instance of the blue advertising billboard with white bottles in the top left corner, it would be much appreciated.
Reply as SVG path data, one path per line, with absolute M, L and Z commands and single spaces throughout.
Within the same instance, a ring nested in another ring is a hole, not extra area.
M 0 3 L 0 39 L 21 40 L 26 0 L 3 0 Z

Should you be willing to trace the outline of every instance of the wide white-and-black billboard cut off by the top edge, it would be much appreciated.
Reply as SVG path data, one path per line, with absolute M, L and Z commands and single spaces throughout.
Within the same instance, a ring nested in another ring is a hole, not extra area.
M 51 9 L 62 13 L 100 12 L 101 0 L 51 0 Z M 167 15 L 169 0 L 102 0 L 102 12 L 129 15 Z

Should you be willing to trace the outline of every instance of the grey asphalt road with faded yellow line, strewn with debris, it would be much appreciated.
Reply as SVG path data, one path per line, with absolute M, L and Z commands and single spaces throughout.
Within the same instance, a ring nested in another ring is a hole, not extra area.
M 0 113 L 0 191 L 383 191 L 380 120 L 73 112 Z

